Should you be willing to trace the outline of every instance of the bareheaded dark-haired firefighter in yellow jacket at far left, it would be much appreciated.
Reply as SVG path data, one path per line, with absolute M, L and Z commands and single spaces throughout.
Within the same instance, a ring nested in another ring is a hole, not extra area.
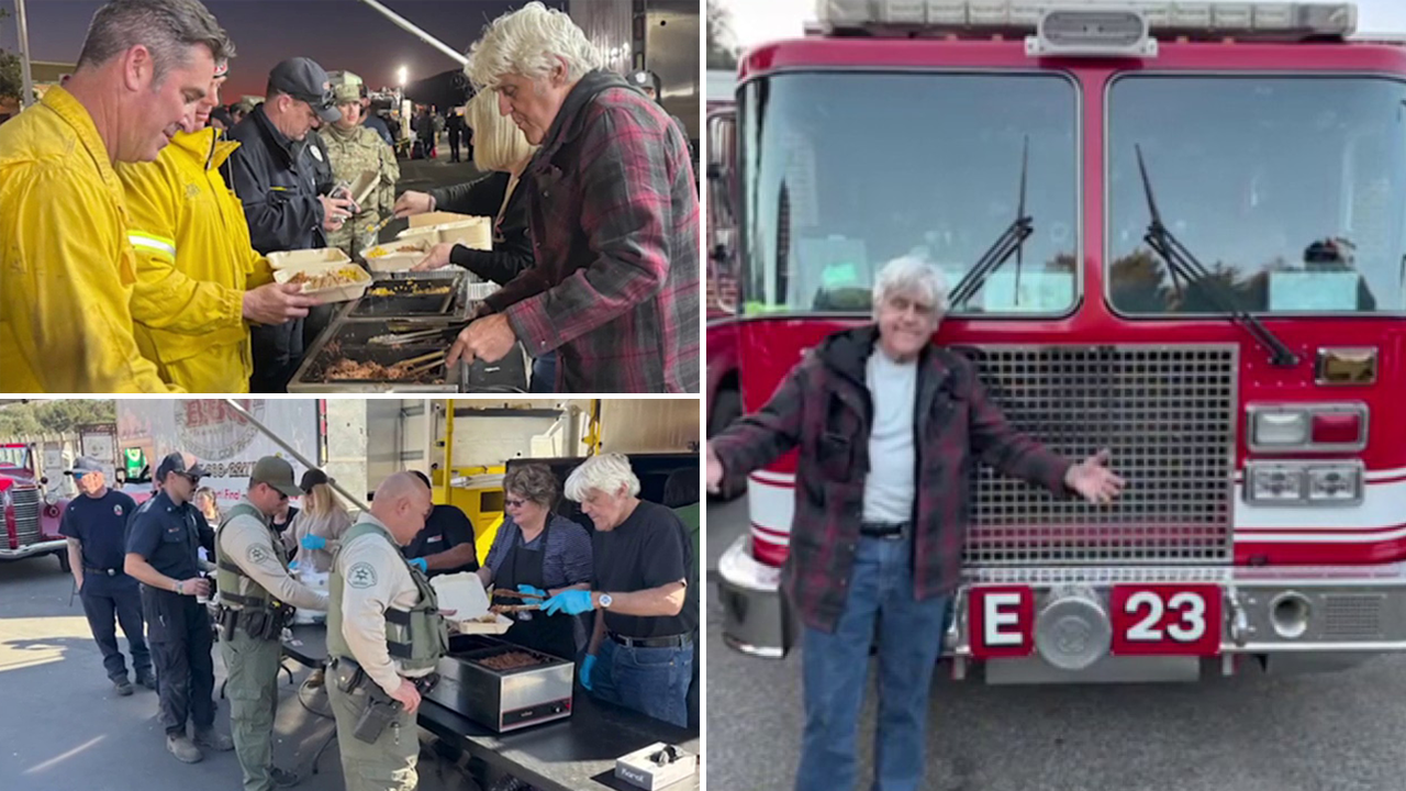
M 0 390 L 167 393 L 141 355 L 115 162 L 150 162 L 233 52 L 195 0 L 93 15 L 66 87 L 0 127 Z

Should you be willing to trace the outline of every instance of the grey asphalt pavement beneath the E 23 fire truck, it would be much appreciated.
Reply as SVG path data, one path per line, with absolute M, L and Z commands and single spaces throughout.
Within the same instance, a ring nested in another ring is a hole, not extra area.
M 711 505 L 709 573 L 747 524 L 745 500 Z M 710 791 L 790 788 L 800 754 L 800 654 L 742 656 L 707 605 Z M 939 669 L 939 674 L 945 666 Z M 1406 657 L 1353 670 L 1197 684 L 987 687 L 929 694 L 935 791 L 1399 791 L 1406 788 Z M 875 694 L 860 722 L 872 773 Z M 868 788 L 868 784 L 865 784 Z M 849 791 L 837 788 L 835 791 Z

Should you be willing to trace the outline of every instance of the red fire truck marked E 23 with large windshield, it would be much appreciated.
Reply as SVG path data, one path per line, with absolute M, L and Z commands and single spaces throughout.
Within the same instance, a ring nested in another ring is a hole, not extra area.
M 950 286 L 938 341 L 1007 418 L 1070 457 L 1109 448 L 1129 481 L 1098 508 L 973 472 L 953 676 L 1406 650 L 1406 48 L 1355 37 L 1346 3 L 821 0 L 818 20 L 745 55 L 735 122 L 710 129 L 745 408 L 920 256 Z M 794 470 L 751 476 L 718 567 L 725 640 L 759 656 L 796 631 Z

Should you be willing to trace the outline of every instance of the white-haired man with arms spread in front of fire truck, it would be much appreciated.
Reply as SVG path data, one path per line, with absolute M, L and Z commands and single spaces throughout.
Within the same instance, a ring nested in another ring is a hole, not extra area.
M 1000 472 L 1108 502 L 1122 480 L 1107 453 L 1071 463 L 1017 432 L 976 367 L 934 342 L 946 286 L 927 262 L 879 273 L 875 322 L 835 332 L 756 414 L 713 438 L 707 483 L 799 449 L 782 587 L 803 624 L 806 729 L 799 791 L 853 788 L 855 738 L 876 618 L 875 788 L 915 790 L 932 667 L 960 583 L 977 456 Z

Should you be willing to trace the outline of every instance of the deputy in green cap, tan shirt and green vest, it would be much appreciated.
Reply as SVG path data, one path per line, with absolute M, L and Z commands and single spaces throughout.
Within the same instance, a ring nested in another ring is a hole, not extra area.
M 328 594 L 288 576 L 288 557 L 269 521 L 290 494 L 292 466 L 264 456 L 249 476 L 249 493 L 215 532 L 219 581 L 219 649 L 229 674 L 229 718 L 245 791 L 292 785 L 298 776 L 273 766 L 273 719 L 278 707 L 280 638 L 292 607 L 328 609 Z

